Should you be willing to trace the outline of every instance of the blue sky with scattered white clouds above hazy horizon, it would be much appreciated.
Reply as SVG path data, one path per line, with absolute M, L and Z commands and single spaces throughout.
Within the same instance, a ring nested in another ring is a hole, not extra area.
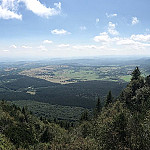
M 150 56 L 150 0 L 0 0 L 0 59 Z

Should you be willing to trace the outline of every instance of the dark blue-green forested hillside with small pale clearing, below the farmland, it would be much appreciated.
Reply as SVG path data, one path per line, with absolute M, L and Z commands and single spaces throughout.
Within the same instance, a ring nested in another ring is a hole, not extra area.
M 61 85 L 43 79 L 20 75 L 0 77 L 0 97 L 8 101 L 34 100 L 53 105 L 93 108 L 95 97 L 105 97 L 109 90 L 114 96 L 126 83 L 114 81 L 82 81 Z

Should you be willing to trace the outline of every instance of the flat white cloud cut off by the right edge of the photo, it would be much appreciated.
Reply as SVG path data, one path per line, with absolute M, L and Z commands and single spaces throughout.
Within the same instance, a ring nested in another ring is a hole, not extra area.
M 143 34 L 131 35 L 130 38 L 134 41 L 150 42 L 150 34 L 148 34 L 148 35 L 143 35 Z

